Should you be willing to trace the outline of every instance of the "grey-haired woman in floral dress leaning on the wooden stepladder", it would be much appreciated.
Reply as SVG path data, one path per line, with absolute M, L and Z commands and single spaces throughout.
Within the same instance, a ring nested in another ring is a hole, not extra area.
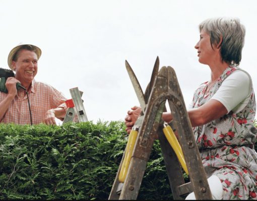
M 187 111 L 203 166 L 215 199 L 257 199 L 257 129 L 255 96 L 250 75 L 238 67 L 245 28 L 238 19 L 207 19 L 199 25 L 195 48 L 199 62 L 211 69 Z M 125 117 L 129 133 L 141 109 Z M 172 120 L 170 113 L 163 120 Z M 187 199 L 195 199 L 194 192 Z

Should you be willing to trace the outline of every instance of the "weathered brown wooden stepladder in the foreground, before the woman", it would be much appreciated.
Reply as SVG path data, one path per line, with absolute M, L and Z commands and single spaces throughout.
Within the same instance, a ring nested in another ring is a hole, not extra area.
M 151 93 L 148 97 L 146 109 L 144 114 L 139 117 L 139 119 L 141 118 L 141 125 L 126 177 L 123 182 L 119 181 L 119 174 L 125 158 L 124 152 L 109 199 L 137 199 L 151 149 L 157 136 L 163 153 L 173 198 L 184 199 L 189 192 L 194 191 L 197 199 L 212 199 L 207 176 L 192 133 L 174 69 L 170 66 L 163 66 L 156 75 L 152 88 L 149 87 L 149 90 Z M 167 123 L 163 122 L 161 118 L 163 111 L 166 110 L 166 100 L 173 115 L 173 121 L 169 125 L 178 133 L 178 140 L 188 169 L 190 178 L 188 183 L 185 183 L 183 179 L 176 150 L 174 151 L 171 148 L 163 132 L 164 127 L 167 126 Z

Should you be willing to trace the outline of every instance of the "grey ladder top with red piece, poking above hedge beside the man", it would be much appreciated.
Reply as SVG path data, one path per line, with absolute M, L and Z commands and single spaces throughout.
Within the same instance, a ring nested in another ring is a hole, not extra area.
M 68 99 L 65 102 L 68 110 L 67 110 L 65 119 L 63 120 L 62 123 L 73 121 L 76 114 L 78 117 L 78 119 L 76 119 L 77 122 L 87 122 L 88 118 L 83 105 L 83 100 L 81 98 L 83 92 L 80 91 L 78 87 L 75 87 L 70 89 L 70 93 L 71 93 L 72 99 Z

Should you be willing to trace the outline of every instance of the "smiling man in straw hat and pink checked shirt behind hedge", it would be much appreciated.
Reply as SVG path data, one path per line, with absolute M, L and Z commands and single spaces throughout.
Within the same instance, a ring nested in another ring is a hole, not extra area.
M 28 44 L 19 44 L 9 53 L 8 65 L 16 75 L 6 81 L 8 93 L 0 91 L 0 123 L 56 125 L 55 118 L 65 117 L 66 98 L 52 86 L 34 79 L 40 56 L 40 48 Z M 17 89 L 17 82 L 27 92 Z

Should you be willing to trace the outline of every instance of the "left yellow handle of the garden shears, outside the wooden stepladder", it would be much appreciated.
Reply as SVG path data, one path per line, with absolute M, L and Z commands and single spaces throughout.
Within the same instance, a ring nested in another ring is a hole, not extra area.
M 121 183 L 125 181 L 127 170 L 129 169 L 131 156 L 136 144 L 137 137 L 138 137 L 138 128 L 133 127 L 130 132 L 129 140 L 127 141 L 127 144 L 126 144 L 126 152 L 125 152 L 124 160 L 119 172 L 118 179 L 119 179 L 119 182 Z

